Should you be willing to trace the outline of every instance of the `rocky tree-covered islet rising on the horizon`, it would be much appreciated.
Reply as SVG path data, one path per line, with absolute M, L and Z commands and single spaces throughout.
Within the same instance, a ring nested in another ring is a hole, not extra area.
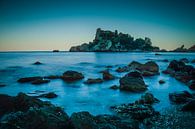
M 123 52 L 123 51 L 159 51 L 158 47 L 153 47 L 149 38 L 135 39 L 129 34 L 118 33 L 117 30 L 104 31 L 97 29 L 93 42 L 73 46 L 71 52 Z

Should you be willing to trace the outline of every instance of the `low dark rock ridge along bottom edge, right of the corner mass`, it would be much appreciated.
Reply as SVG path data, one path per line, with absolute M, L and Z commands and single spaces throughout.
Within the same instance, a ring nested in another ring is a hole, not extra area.
M 71 121 L 75 129 L 139 129 L 135 120 L 112 115 L 92 116 L 89 112 L 73 113 Z

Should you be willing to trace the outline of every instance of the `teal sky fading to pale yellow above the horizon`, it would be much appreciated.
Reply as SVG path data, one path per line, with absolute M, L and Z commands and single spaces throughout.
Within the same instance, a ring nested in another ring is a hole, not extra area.
M 189 48 L 195 0 L 0 0 L 0 51 L 69 50 L 93 41 L 97 28 Z

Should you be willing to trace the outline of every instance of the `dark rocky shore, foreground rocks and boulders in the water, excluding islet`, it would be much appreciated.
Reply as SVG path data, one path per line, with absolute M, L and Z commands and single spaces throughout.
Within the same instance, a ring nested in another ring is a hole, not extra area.
M 162 71 L 178 81 L 183 82 L 189 89 L 194 90 L 195 69 L 188 65 L 187 59 L 172 60 L 167 69 Z M 41 63 L 38 63 L 41 64 Z M 50 83 L 53 79 L 61 79 L 67 83 L 82 81 L 86 85 L 103 83 L 118 77 L 109 68 L 99 72 L 101 78 L 88 78 L 81 72 L 67 70 L 62 75 L 23 77 L 18 83 L 41 85 Z M 18 93 L 17 96 L 0 94 L 0 129 L 193 129 L 195 125 L 195 94 L 188 91 L 169 93 L 171 107 L 159 112 L 154 108 L 161 103 L 148 90 L 144 78 L 161 74 L 159 66 L 154 61 L 144 64 L 133 61 L 124 67 L 118 67 L 116 72 L 125 74 L 118 78 L 119 86 L 110 89 L 128 93 L 144 93 L 133 103 L 110 106 L 113 113 L 94 116 L 87 111 L 74 112 L 70 116 L 64 109 L 42 101 L 39 98 L 52 99 L 58 97 L 54 92 L 37 91 L 39 95 L 29 96 Z M 85 79 L 85 80 L 84 80 Z M 160 84 L 166 83 L 159 80 Z M 36 94 L 36 93 L 35 93 Z

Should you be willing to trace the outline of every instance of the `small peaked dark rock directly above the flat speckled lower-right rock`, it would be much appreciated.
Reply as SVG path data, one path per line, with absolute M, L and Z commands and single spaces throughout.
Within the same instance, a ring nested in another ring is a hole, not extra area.
M 151 93 L 145 93 L 141 96 L 141 98 L 136 101 L 135 103 L 138 104 L 154 104 L 160 102 L 157 98 L 153 96 Z

